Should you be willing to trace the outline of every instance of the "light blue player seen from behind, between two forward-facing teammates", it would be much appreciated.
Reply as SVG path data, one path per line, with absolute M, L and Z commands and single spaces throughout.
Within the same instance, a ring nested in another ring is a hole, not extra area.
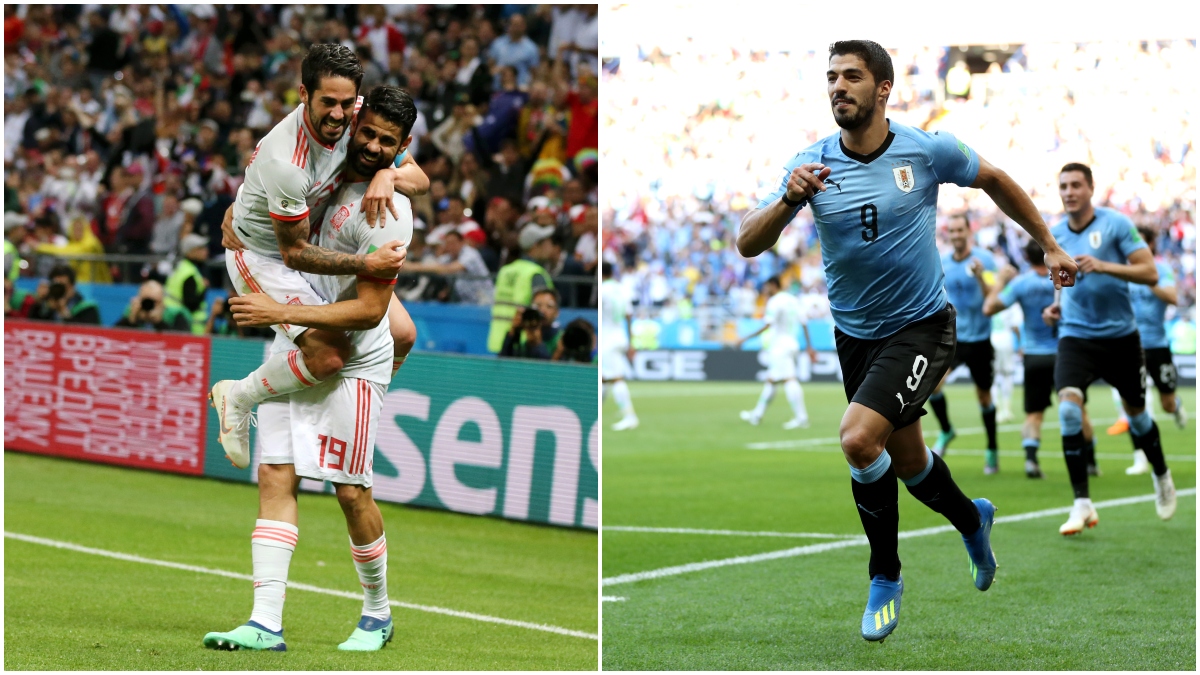
M 1025 317 L 1021 330 L 1021 351 L 1025 353 L 1025 425 L 1021 426 L 1021 447 L 1025 448 L 1025 476 L 1042 478 L 1038 448 L 1042 446 L 1042 422 L 1050 407 L 1054 393 L 1054 363 L 1058 351 L 1058 334 L 1054 327 L 1042 321 L 1042 310 L 1054 304 L 1054 281 L 1046 269 L 1045 255 L 1037 241 L 1025 245 L 1028 271 L 1018 275 L 1016 269 L 1004 267 L 996 276 L 983 313 L 995 316 L 1004 307 L 1020 304 Z M 1092 440 L 1092 424 L 1084 410 L 1084 437 Z

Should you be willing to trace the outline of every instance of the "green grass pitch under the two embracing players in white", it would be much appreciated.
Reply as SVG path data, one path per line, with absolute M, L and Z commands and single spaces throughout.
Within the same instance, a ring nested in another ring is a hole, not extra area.
M 250 617 L 247 580 L 113 560 L 28 534 L 251 573 L 254 485 L 5 453 L 6 670 L 595 670 L 596 536 L 379 504 L 394 601 L 592 637 L 392 608 L 396 638 L 348 653 L 361 601 L 288 589 L 288 651 L 204 649 Z M 360 592 L 332 495 L 300 496 L 289 581 Z

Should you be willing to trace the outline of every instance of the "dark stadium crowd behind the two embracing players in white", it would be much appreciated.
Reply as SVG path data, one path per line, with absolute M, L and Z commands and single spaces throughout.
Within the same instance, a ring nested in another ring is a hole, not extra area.
M 68 258 L 72 285 L 166 282 L 188 235 L 205 238 L 208 283 L 226 285 L 222 216 L 257 142 L 300 102 L 318 42 L 359 54 L 360 94 L 398 85 L 419 109 L 409 151 L 431 187 L 413 201 L 408 261 L 424 271 L 402 276 L 402 299 L 492 304 L 527 223 L 553 227 L 553 277 L 594 273 L 594 5 L 4 11 L 6 315 L 28 311 L 16 277 L 49 281 L 56 256 L 94 256 Z M 596 304 L 594 285 L 560 291 L 564 306 Z

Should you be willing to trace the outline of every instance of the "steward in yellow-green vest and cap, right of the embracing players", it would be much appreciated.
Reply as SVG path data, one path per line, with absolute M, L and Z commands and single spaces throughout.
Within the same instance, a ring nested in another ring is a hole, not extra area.
M 487 331 L 487 351 L 499 353 L 504 335 L 512 327 L 517 309 L 528 307 L 539 288 L 553 288 L 550 273 L 542 267 L 552 261 L 553 226 L 529 223 L 521 229 L 517 241 L 524 252 L 520 259 L 500 268 L 496 275 L 496 295 L 492 301 L 492 325 Z

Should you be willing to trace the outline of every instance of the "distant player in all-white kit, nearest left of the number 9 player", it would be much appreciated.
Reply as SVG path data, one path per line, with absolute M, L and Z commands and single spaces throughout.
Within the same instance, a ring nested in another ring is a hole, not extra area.
M 737 346 L 760 335 L 768 329 L 770 333 L 763 335 L 763 351 L 767 353 L 767 382 L 762 386 L 762 394 L 758 396 L 758 405 L 754 410 L 742 411 L 742 419 L 757 426 L 762 420 L 762 414 L 767 412 L 767 406 L 775 398 L 775 387 L 784 386 L 784 395 L 787 396 L 788 405 L 792 406 L 792 419 L 784 423 L 784 429 L 799 429 L 809 425 L 809 411 L 804 407 L 804 389 L 800 388 L 799 376 L 796 374 L 796 358 L 800 353 L 800 342 L 796 339 L 799 331 L 804 330 L 804 344 L 808 347 L 809 359 L 816 362 L 817 353 L 812 348 L 812 339 L 809 336 L 809 324 L 803 321 L 803 307 L 800 300 L 791 293 L 784 292 L 784 286 L 778 276 L 772 276 L 762 285 L 762 292 L 767 295 L 767 307 L 763 318 L 763 327 L 750 335 L 738 340 Z

